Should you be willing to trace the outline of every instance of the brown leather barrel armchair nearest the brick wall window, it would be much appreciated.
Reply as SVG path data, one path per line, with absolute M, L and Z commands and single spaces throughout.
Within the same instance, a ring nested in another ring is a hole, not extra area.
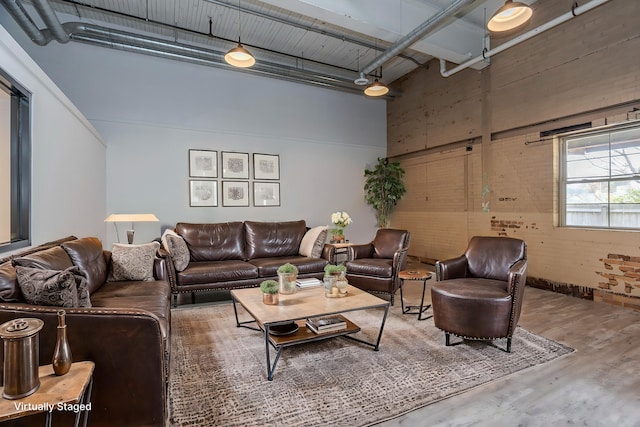
M 527 245 L 509 237 L 471 239 L 464 255 L 436 263 L 431 287 L 435 326 L 465 339 L 507 339 L 520 318 L 527 279 Z

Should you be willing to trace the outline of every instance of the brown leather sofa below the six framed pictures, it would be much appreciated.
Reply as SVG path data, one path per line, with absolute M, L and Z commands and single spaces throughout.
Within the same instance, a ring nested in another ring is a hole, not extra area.
M 333 247 L 324 246 L 320 258 L 299 254 L 306 223 L 225 222 L 215 224 L 176 224 L 175 232 L 189 248 L 189 264 L 177 271 L 167 263 L 167 277 L 177 296 L 196 292 L 258 286 L 267 279 L 278 279 L 277 269 L 285 263 L 298 267 L 298 277 L 322 279 Z

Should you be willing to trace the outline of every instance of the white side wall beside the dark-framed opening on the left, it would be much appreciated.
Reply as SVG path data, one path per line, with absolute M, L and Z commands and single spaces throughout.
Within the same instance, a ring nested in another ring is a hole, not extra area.
M 32 93 L 32 243 L 104 238 L 106 146 L 97 131 L 2 27 L 0 67 Z

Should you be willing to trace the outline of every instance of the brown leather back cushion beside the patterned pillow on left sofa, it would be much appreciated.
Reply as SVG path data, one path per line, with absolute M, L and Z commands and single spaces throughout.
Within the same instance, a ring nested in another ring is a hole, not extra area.
M 107 261 L 104 258 L 102 242 L 96 237 L 65 242 L 62 245 L 73 265 L 78 267 L 87 278 L 89 293 L 94 293 L 107 281 Z

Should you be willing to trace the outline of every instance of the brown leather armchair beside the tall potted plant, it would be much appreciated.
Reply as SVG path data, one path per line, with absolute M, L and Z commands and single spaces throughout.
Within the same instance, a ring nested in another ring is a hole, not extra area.
M 411 234 L 407 230 L 381 228 L 371 243 L 349 247 L 347 280 L 371 293 L 387 294 L 393 305 L 400 287 L 398 273 L 407 265 Z

